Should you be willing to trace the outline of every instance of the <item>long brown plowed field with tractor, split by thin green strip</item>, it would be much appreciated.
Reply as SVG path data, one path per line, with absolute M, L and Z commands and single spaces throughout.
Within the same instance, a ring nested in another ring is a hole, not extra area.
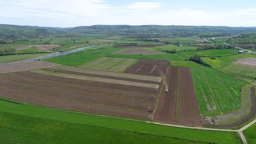
M 189 68 L 170 66 L 153 119 L 175 125 L 202 126 Z

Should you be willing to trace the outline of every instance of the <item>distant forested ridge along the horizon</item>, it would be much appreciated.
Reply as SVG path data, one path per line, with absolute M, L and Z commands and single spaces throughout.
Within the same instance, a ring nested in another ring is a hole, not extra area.
M 92 25 L 74 28 L 55 28 L 0 24 L 0 37 L 107 34 L 135 38 L 168 36 L 228 36 L 239 33 L 255 33 L 256 27 L 181 26 L 181 25 Z

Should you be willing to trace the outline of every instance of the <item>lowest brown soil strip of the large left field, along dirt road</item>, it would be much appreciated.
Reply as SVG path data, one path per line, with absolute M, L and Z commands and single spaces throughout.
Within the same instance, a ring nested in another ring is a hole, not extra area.
M 64 110 L 82 111 L 88 113 L 105 114 L 121 117 L 132 117 L 135 119 L 144 120 L 149 120 L 151 117 L 151 113 L 149 112 L 131 110 L 109 105 L 95 104 L 85 101 L 78 101 L 74 99 L 57 98 L 42 94 L 30 94 L 28 92 L 4 88 L 1 86 L 0 95 L 35 105 L 43 105 L 46 107 L 59 108 Z

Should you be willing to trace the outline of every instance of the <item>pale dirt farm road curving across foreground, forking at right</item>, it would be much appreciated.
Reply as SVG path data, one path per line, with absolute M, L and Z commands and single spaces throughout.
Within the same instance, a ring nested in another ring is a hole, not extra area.
M 150 122 L 150 121 L 144 121 L 144 120 L 128 119 L 128 118 L 124 118 L 124 117 L 105 116 L 105 115 L 101 115 L 101 114 L 83 113 L 83 112 L 77 112 L 77 111 L 69 111 L 69 110 L 61 110 L 61 109 L 56 109 L 56 108 L 42 107 L 42 106 L 39 106 L 39 105 L 28 104 L 28 103 L 25 103 L 25 102 L 15 101 L 15 100 L 3 98 L 3 97 L 0 97 L 0 100 L 16 102 L 16 103 L 25 104 L 25 105 L 31 105 L 33 107 L 45 108 L 45 109 L 48 109 L 48 110 L 65 111 L 65 112 L 69 112 L 69 113 L 79 113 L 79 114 L 86 114 L 86 115 L 91 115 L 91 116 L 100 116 L 100 117 L 109 117 L 109 118 L 115 118 L 115 119 L 131 120 L 131 121 L 135 121 L 135 122 L 153 123 L 153 124 L 156 124 L 156 125 L 173 126 L 173 127 L 178 127 L 178 128 L 201 129 L 201 130 L 208 130 L 208 131 L 237 132 L 240 135 L 241 139 L 243 140 L 244 144 L 247 144 L 247 141 L 246 141 L 246 138 L 244 137 L 243 131 L 245 129 L 249 128 L 254 123 L 256 123 L 256 119 L 255 119 L 255 120 L 253 120 L 252 122 L 243 126 L 240 129 L 214 129 L 214 128 L 190 127 L 190 126 L 179 126 L 179 125 L 171 125 L 171 124 L 158 123 L 158 122 Z

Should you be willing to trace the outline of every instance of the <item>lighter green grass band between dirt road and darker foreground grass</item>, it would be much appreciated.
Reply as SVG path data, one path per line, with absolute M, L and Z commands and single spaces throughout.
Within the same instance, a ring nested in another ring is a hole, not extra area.
M 128 131 L 128 132 L 134 132 L 134 133 L 140 133 L 140 134 L 156 135 L 160 137 L 170 137 L 170 138 L 184 139 L 184 140 L 190 140 L 190 141 L 200 141 L 204 143 L 212 143 L 214 141 L 216 141 L 219 144 L 239 144 L 240 143 L 240 140 L 237 137 L 237 133 L 235 132 L 207 131 L 207 130 L 162 126 L 162 125 L 155 125 L 155 124 L 139 122 L 139 121 L 136 122 L 131 120 L 116 119 L 112 117 L 101 117 L 101 116 L 93 116 L 93 115 L 81 114 L 81 113 L 75 113 L 75 112 L 72 113 L 67 111 L 51 110 L 51 109 L 46 109 L 42 107 L 21 104 L 14 101 L 10 102 L 10 101 L 0 100 L 0 112 L 18 114 L 19 118 L 17 119 L 22 119 L 22 117 L 25 117 L 25 116 L 34 117 L 33 119 L 40 118 L 40 119 L 37 119 L 38 123 L 42 122 L 42 120 L 56 120 L 59 123 L 58 125 L 60 125 L 60 123 L 62 122 L 66 122 L 65 123 L 66 125 L 67 123 L 70 123 L 72 124 L 72 126 L 80 124 L 80 125 L 94 126 L 96 128 L 107 128 L 107 129 L 113 129 L 116 131 Z M 21 123 L 22 121 L 16 121 L 16 122 L 19 123 L 19 126 L 23 126 L 23 124 Z M 46 127 L 46 128 L 55 129 L 55 131 L 57 132 L 61 131 L 61 129 L 58 130 L 55 127 Z M 84 129 L 82 131 L 84 131 Z M 76 132 L 76 130 L 74 132 Z M 12 137 L 12 135 L 7 135 L 7 136 Z M 102 134 L 101 137 L 107 137 L 107 135 Z

